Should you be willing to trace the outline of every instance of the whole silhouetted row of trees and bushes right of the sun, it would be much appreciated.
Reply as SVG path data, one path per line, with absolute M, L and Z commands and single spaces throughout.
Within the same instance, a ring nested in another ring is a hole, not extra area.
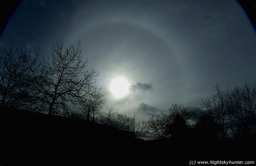
M 152 139 L 217 140 L 255 139 L 256 84 L 244 84 L 233 90 L 222 90 L 218 83 L 211 99 L 201 103 L 200 115 L 182 104 L 172 104 L 169 115 L 151 115 L 146 125 L 147 136 Z

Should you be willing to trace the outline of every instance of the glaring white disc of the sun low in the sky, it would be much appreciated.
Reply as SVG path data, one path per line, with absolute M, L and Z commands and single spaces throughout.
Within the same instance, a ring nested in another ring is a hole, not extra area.
M 124 78 L 117 78 L 112 81 L 110 90 L 116 97 L 119 98 L 128 93 L 129 84 Z

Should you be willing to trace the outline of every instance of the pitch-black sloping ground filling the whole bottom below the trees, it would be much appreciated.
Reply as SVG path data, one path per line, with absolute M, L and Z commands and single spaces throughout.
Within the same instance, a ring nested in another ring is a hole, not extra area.
M 255 140 L 144 141 L 132 132 L 83 120 L 0 108 L 0 166 L 189 165 L 253 161 Z

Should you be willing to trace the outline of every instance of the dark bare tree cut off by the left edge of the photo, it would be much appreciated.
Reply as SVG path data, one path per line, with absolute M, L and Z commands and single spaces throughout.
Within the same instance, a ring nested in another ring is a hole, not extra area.
M 31 83 L 31 70 L 34 70 L 39 51 L 22 48 L 5 49 L 0 57 L 0 95 L 1 106 L 26 109 L 32 102 L 30 96 L 34 92 Z

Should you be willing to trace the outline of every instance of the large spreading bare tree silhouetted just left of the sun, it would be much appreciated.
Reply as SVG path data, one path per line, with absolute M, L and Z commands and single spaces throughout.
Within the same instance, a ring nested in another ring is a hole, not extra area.
M 37 100 L 35 107 L 53 114 L 58 112 L 69 116 L 68 104 L 79 104 L 90 98 L 101 98 L 101 87 L 97 84 L 99 72 L 94 68 L 86 71 L 88 58 L 82 60 L 80 40 L 64 47 L 63 42 L 53 45 L 52 59 L 44 59 L 33 72 L 37 84 Z

